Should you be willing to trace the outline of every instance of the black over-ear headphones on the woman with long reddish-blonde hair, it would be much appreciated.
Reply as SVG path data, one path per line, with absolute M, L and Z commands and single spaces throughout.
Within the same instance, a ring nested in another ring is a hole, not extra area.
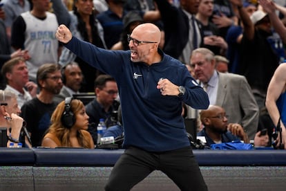
M 70 105 L 72 100 L 73 97 L 67 97 L 65 99 L 64 112 L 61 116 L 62 124 L 68 129 L 73 127 L 73 125 L 75 124 L 75 114 L 73 113 L 73 111 L 71 111 L 71 105 Z

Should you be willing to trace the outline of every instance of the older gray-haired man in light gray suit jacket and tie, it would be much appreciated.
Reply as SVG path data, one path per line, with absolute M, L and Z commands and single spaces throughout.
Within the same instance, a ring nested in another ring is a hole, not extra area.
M 194 50 L 190 62 L 197 80 L 209 95 L 210 104 L 224 108 L 229 122 L 242 125 L 249 139 L 254 139 L 259 109 L 246 78 L 216 71 L 214 54 L 207 48 Z

